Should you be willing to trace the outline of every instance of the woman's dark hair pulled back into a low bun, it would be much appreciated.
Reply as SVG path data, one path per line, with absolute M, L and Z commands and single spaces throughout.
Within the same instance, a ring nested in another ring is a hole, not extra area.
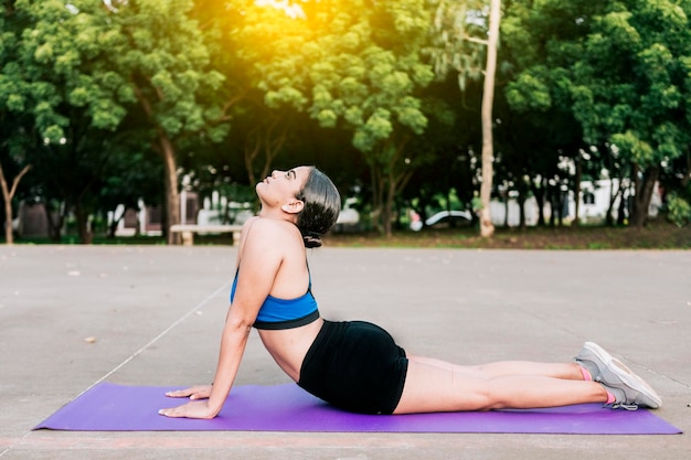
M 331 179 L 312 167 L 296 197 L 305 203 L 297 222 L 305 247 L 319 247 L 321 236 L 331 229 L 341 212 L 341 195 Z

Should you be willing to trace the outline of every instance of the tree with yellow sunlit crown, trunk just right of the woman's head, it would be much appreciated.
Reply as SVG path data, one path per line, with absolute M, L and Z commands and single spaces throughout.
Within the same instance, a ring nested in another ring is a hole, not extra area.
M 262 42 L 242 47 L 251 50 L 253 86 L 269 108 L 290 105 L 323 128 L 352 130 L 370 167 L 381 229 L 390 235 L 396 193 L 428 161 L 429 150 L 410 146 L 428 122 L 419 90 L 434 76 L 422 54 L 429 12 L 422 0 L 301 7 L 295 17 L 261 6 L 245 11 L 242 40 Z

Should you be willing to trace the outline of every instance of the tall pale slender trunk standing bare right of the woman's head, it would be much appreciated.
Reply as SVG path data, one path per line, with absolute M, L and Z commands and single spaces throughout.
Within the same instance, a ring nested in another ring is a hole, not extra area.
M 482 89 L 482 184 L 480 185 L 480 236 L 490 238 L 495 234 L 495 225 L 489 211 L 495 175 L 495 148 L 492 137 L 492 105 L 495 100 L 495 74 L 497 72 L 497 43 L 499 42 L 499 21 L 501 0 L 491 0 L 489 12 L 489 36 L 487 41 L 487 66 L 485 68 L 485 87 Z

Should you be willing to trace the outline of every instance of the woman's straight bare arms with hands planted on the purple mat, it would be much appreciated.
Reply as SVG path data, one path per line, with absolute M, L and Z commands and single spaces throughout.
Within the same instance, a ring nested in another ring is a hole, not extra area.
M 252 226 L 252 233 L 245 237 L 241 249 L 242 266 L 237 274 L 237 289 L 225 319 L 213 386 L 192 387 L 169 394 L 173 397 L 209 398 L 161 409 L 159 414 L 168 417 L 213 418 L 221 411 L 237 375 L 252 325 L 281 266 L 285 254 L 281 231 L 283 226 L 277 226 L 276 223 L 257 221 Z

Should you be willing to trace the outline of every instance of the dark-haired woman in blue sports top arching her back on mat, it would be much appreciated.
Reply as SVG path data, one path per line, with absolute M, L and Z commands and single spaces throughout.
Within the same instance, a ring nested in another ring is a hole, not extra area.
M 243 228 L 213 385 L 170 392 L 187 404 L 168 417 L 213 418 L 233 386 L 254 327 L 280 368 L 299 386 L 364 414 L 538 408 L 580 403 L 660 407 L 640 377 L 586 342 L 572 363 L 497 362 L 461 366 L 407 354 L 366 322 L 319 317 L 306 247 L 336 223 L 340 196 L 321 171 L 274 171 L 256 185 L 258 216 Z

